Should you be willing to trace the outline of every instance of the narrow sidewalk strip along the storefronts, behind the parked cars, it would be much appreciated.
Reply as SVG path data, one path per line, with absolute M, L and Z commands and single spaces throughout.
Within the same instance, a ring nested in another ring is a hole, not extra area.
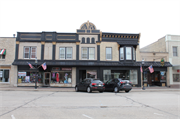
M 47 92 L 75 92 L 73 87 L 0 87 L 0 91 L 47 91 Z M 133 87 L 133 92 L 158 92 L 158 91 L 179 91 L 180 88 L 169 88 L 169 87 L 145 87 L 142 90 L 141 87 Z

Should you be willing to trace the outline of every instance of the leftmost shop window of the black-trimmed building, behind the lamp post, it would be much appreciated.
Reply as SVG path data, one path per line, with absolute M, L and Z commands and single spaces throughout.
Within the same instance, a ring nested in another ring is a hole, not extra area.
M 36 76 L 38 76 L 38 83 L 42 83 L 43 73 L 38 72 L 18 72 L 18 83 L 35 83 Z

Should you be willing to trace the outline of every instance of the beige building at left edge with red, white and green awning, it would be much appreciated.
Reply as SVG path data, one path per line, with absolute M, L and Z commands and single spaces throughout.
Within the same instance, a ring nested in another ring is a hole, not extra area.
M 0 37 L 0 86 L 17 85 L 17 66 L 12 65 L 15 59 L 15 37 Z

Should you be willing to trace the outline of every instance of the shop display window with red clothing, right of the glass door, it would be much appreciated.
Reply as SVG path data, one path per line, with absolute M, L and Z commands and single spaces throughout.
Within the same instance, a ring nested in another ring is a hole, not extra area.
M 72 82 L 72 71 L 51 72 L 51 83 L 70 84 Z

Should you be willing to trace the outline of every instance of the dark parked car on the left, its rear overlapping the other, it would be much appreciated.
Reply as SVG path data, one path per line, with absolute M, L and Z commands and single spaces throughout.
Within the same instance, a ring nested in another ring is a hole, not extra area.
M 75 86 L 76 92 L 78 91 L 87 91 L 91 93 L 92 91 L 99 91 L 100 93 L 104 92 L 104 83 L 99 79 L 86 78 Z

